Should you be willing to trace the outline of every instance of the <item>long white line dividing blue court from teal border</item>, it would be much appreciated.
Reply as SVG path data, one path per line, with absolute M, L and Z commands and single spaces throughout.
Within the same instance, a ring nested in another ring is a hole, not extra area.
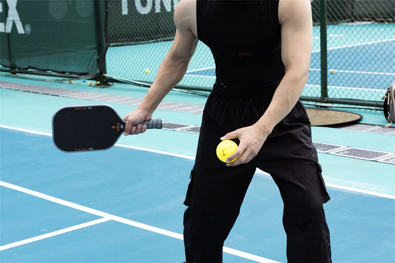
M 17 127 L 1 125 L 1 124 L 0 124 L 0 128 L 6 128 L 6 129 L 10 129 L 10 130 L 23 131 L 23 132 L 40 134 L 40 135 L 45 135 L 45 136 L 51 136 L 52 137 L 52 135 L 49 134 L 49 133 L 37 132 L 37 131 L 21 129 L 21 128 L 17 128 Z M 116 144 L 115 146 L 122 147 L 122 148 L 128 148 L 128 149 L 134 149 L 134 150 L 144 150 L 144 151 L 149 151 L 149 152 L 155 152 L 155 153 L 160 153 L 160 154 L 180 157 L 180 158 L 184 158 L 184 159 L 195 160 L 195 157 L 191 157 L 191 156 L 187 156 L 187 155 L 183 155 L 183 154 L 172 153 L 172 152 L 167 152 L 167 151 L 162 151 L 162 150 L 152 150 L 152 149 L 146 149 L 146 148 L 141 148 L 141 147 L 122 145 L 122 144 Z M 77 154 L 77 153 L 75 153 L 75 154 Z M 257 173 L 266 174 L 266 175 L 268 174 L 268 173 L 260 172 L 260 171 L 257 171 Z M 326 184 L 326 185 L 328 185 L 328 184 Z M 367 191 L 367 190 L 363 190 L 363 189 L 349 188 L 349 187 L 337 186 L 337 185 L 332 185 L 332 187 L 333 188 L 339 188 L 339 189 L 348 188 L 348 189 L 353 189 L 352 191 L 355 191 L 355 192 L 360 192 L 360 193 L 367 193 L 367 192 L 369 192 L 369 194 L 371 194 L 371 195 L 376 195 L 376 196 L 382 196 L 382 197 L 395 199 L 395 195 L 388 195 L 388 194 L 383 194 L 383 193 L 379 193 L 379 192 L 372 192 L 372 191 Z M 388 197 L 388 196 L 391 196 L 391 197 Z

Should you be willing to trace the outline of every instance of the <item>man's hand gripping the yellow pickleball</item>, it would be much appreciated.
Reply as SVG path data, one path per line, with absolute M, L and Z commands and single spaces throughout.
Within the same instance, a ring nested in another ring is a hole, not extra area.
M 269 133 L 263 132 L 257 125 L 240 128 L 226 134 L 221 138 L 222 141 L 235 138 L 240 140 L 237 150 L 230 155 L 227 160 L 238 158 L 233 162 L 228 162 L 226 165 L 237 166 L 239 164 L 248 163 L 258 154 L 259 150 L 261 150 L 268 136 Z

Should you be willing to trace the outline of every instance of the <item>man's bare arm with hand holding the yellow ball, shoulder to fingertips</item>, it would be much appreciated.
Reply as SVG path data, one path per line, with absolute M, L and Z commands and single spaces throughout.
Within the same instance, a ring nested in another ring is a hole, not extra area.
M 285 75 L 263 116 L 252 126 L 228 133 L 221 140 L 238 138 L 239 147 L 229 156 L 228 166 L 249 162 L 262 148 L 266 138 L 295 106 L 307 82 L 312 52 L 312 13 L 309 0 L 280 0 L 281 57 Z

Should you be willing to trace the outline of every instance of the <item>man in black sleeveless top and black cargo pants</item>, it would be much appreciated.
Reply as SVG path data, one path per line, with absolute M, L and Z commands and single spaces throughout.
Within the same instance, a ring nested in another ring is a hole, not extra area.
M 312 50 L 309 0 L 181 0 L 174 42 L 142 104 L 124 117 L 125 135 L 145 132 L 163 97 L 182 79 L 198 39 L 210 47 L 216 83 L 203 112 L 184 204 L 187 262 L 222 262 L 256 167 L 284 202 L 288 262 L 331 262 L 321 176 L 310 121 L 298 100 Z M 238 139 L 225 165 L 220 140 Z M 265 194 L 264 192 L 262 194 Z

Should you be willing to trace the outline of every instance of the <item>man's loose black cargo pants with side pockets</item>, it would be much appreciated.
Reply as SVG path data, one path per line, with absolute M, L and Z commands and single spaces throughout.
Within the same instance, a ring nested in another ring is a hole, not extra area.
M 188 263 L 222 262 L 224 241 L 236 222 L 256 167 L 268 172 L 279 188 L 288 262 L 331 262 L 329 229 L 322 206 L 330 198 L 312 144 L 310 121 L 300 101 L 276 125 L 249 163 L 228 167 L 216 156 L 220 138 L 254 124 L 271 99 L 239 98 L 218 86 L 207 99 L 184 202 L 188 206 L 184 213 Z

